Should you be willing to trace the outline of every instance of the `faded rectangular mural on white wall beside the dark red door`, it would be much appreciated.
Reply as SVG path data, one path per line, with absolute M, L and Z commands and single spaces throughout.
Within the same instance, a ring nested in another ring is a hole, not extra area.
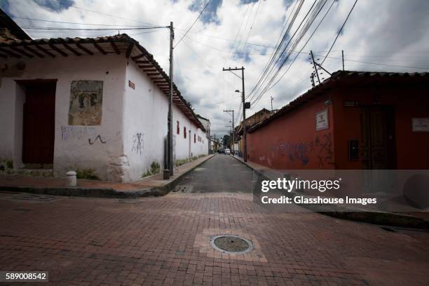
M 71 81 L 69 125 L 100 125 L 103 81 Z

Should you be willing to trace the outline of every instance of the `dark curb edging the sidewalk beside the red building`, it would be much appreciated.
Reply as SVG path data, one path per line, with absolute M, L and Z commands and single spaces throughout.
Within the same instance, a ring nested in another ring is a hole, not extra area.
M 236 158 L 233 156 L 233 158 Z M 236 158 L 237 161 L 242 163 L 243 165 L 247 166 L 247 168 L 250 168 L 254 170 L 254 172 L 257 172 L 261 177 L 264 179 L 271 179 L 260 172 L 260 170 L 257 170 L 255 168 L 252 168 L 249 164 L 241 161 L 239 158 Z M 299 194 L 292 194 L 292 196 L 303 196 L 302 193 Z M 319 214 L 325 214 L 329 217 L 336 217 L 337 219 L 348 219 L 355 222 L 366 222 L 369 224 L 380 224 L 385 226 L 400 226 L 400 227 L 408 227 L 413 229 L 429 229 L 429 222 L 425 219 L 422 219 L 420 217 L 414 217 L 408 214 L 400 214 L 395 212 L 370 212 L 370 211 L 364 211 L 362 212 L 355 212 L 350 211 L 346 207 L 338 207 L 336 205 L 327 205 L 325 207 L 326 211 L 320 211 L 320 210 L 314 210 L 312 205 L 306 205 L 306 204 L 299 204 L 300 207 L 305 207 L 308 210 L 311 210 L 313 212 L 318 212 Z

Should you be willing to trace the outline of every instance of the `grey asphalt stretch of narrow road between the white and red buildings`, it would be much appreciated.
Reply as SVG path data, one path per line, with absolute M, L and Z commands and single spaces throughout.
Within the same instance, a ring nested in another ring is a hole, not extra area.
M 180 186 L 191 186 L 189 193 L 252 193 L 253 171 L 230 155 L 216 154 L 190 172 Z

